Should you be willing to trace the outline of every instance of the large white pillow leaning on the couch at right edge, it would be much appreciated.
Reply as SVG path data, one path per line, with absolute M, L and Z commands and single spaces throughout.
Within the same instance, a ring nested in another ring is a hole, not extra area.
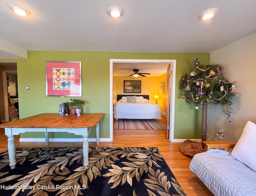
M 231 156 L 256 172 L 256 124 L 250 121 L 246 123 Z

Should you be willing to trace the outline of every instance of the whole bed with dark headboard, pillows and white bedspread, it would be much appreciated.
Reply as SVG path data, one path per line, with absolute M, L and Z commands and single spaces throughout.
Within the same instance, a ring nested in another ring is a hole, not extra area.
M 115 119 L 161 119 L 162 108 L 149 101 L 149 95 L 117 95 Z

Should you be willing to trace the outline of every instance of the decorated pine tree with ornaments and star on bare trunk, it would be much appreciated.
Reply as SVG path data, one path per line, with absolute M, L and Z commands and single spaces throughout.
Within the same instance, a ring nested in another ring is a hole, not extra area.
M 223 112 L 228 115 L 228 122 L 230 122 L 231 100 L 236 92 L 235 82 L 230 82 L 226 78 L 220 64 L 200 65 L 198 58 L 192 58 L 192 63 L 190 72 L 185 73 L 180 80 L 181 97 L 186 102 L 194 104 L 196 110 L 199 107 L 202 109 L 202 141 L 206 141 L 207 105 L 226 105 Z

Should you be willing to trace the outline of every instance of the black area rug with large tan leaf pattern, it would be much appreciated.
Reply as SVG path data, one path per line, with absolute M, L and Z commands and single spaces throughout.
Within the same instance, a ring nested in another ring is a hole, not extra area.
M 185 193 L 156 147 L 17 148 L 0 153 L 0 195 L 167 196 Z

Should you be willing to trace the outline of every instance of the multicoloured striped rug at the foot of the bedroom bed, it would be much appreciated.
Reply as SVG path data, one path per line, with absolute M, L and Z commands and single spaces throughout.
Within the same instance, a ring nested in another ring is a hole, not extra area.
M 114 120 L 114 130 L 164 130 L 166 125 L 157 119 L 118 119 Z

